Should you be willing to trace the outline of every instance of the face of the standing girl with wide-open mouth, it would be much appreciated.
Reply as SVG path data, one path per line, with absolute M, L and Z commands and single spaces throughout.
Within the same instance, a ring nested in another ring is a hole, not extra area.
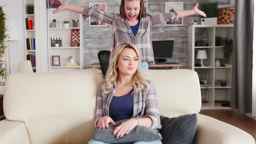
M 140 13 L 140 0 L 125 0 L 125 16 L 128 21 L 138 20 L 138 15 Z

